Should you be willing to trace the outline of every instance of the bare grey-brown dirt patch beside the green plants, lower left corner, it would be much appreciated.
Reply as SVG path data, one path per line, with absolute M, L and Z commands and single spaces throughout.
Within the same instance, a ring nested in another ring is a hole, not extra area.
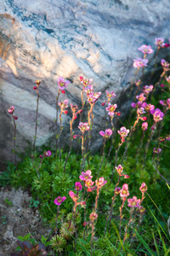
M 17 247 L 17 236 L 31 236 L 41 241 L 52 231 L 43 226 L 37 209 L 29 207 L 31 196 L 19 189 L 0 189 L 0 255 L 10 256 Z M 52 252 L 50 255 L 54 255 Z

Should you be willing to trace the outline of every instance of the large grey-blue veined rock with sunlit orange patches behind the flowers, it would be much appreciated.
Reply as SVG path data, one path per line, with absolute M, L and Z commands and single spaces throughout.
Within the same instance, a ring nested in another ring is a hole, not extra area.
M 169 9 L 167 0 L 1 0 L 0 159 L 12 160 L 14 130 L 8 107 L 13 105 L 19 117 L 17 146 L 23 151 L 33 141 L 35 79 L 42 79 L 37 131 L 37 145 L 42 145 L 54 138 L 58 77 L 71 81 L 60 100 L 81 106 L 82 75 L 94 79 L 95 91 L 114 90 L 116 102 L 133 78 L 133 59 L 142 57 L 137 48 L 154 48 L 156 37 L 169 37 Z M 94 108 L 95 127 L 105 114 L 100 103 Z M 69 119 L 70 114 L 63 118 L 65 128 Z

